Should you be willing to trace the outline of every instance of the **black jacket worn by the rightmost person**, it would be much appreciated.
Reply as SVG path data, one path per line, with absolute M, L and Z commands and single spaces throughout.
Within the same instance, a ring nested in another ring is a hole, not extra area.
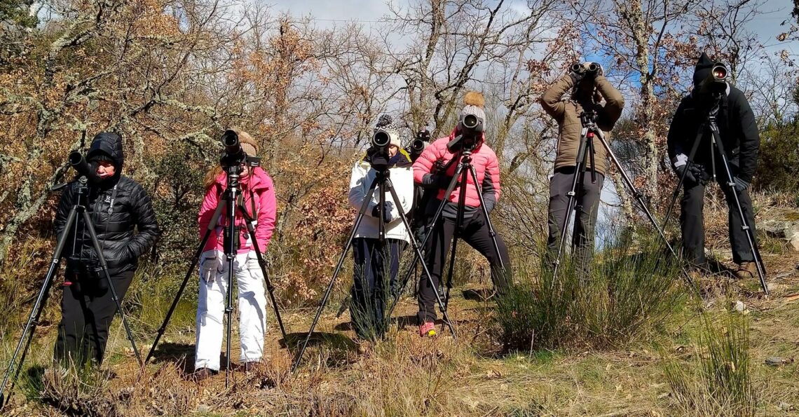
M 700 102 L 694 94 L 680 101 L 677 112 L 669 127 L 667 140 L 669 157 L 674 161 L 678 154 L 689 155 L 697 138 L 699 126 L 706 121 L 708 106 Z M 760 149 L 760 133 L 749 101 L 740 89 L 729 85 L 729 91 L 721 96 L 721 107 L 716 118 L 721 144 L 729 159 L 733 175 L 743 181 L 751 182 L 757 166 L 757 152 Z M 694 163 L 702 165 L 710 172 L 710 131 L 705 129 L 702 140 L 694 156 Z M 716 170 L 720 178 L 725 174 L 720 158 L 716 157 Z

